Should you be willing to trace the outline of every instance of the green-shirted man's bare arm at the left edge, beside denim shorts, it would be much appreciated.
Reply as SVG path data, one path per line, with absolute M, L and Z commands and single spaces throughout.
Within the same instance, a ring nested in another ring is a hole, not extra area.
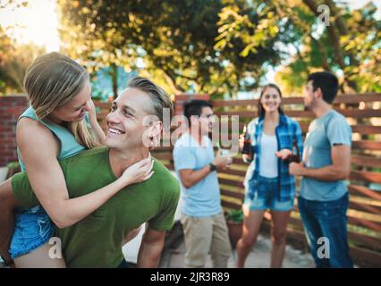
M 9 254 L 9 248 L 14 231 L 13 208 L 19 206 L 14 198 L 11 179 L 3 181 L 0 184 L 0 256 L 6 263 L 12 259 Z

